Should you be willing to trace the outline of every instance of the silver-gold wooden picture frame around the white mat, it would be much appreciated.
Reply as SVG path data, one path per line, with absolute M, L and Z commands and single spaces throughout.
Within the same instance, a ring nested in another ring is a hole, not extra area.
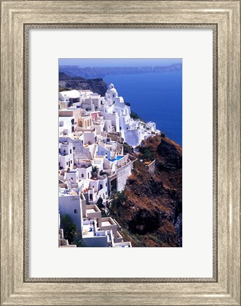
M 217 273 L 213 278 L 82 282 L 28 278 L 24 34 L 29 26 L 71 28 L 74 24 L 96 28 L 211 25 L 217 30 L 214 194 L 218 205 L 213 239 Z M 99 305 L 240 305 L 240 1 L 1 1 L 1 305 L 96 301 Z

